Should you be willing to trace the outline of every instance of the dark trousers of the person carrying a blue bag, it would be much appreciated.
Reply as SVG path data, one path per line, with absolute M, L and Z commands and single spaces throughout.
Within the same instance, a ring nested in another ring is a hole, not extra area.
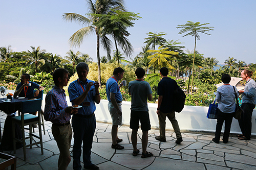
M 217 142 L 220 141 L 221 129 L 224 121 L 225 121 L 225 128 L 224 128 L 224 134 L 223 134 L 222 140 L 224 143 L 228 142 L 228 136 L 230 133 L 232 119 L 233 119 L 233 113 L 223 113 L 222 111 L 220 111 L 220 109 L 217 109 L 217 124 L 216 124 L 216 131 L 215 131 L 215 140 Z

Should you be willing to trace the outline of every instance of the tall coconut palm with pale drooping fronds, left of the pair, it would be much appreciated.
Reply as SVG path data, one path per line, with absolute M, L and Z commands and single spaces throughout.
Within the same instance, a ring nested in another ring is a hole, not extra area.
M 80 46 L 83 38 L 88 37 L 92 33 L 96 33 L 97 36 L 97 61 L 98 61 L 98 81 L 101 87 L 101 77 L 100 77 L 100 55 L 99 55 L 99 41 L 101 39 L 101 44 L 104 50 L 107 51 L 108 56 L 111 53 L 111 41 L 106 36 L 101 36 L 99 34 L 100 29 L 93 25 L 94 22 L 99 20 L 99 17 L 94 17 L 91 14 L 108 14 L 111 8 L 120 9 L 124 11 L 123 0 L 87 0 L 89 5 L 89 13 L 86 14 L 89 17 L 82 16 L 76 13 L 65 13 L 62 18 L 67 21 L 77 21 L 81 25 L 88 25 L 88 27 L 81 28 L 75 32 L 69 39 L 71 46 Z

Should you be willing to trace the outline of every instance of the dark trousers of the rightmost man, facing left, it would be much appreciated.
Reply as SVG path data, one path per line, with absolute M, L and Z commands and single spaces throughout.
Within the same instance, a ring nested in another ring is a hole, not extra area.
M 251 116 L 255 105 L 250 103 L 243 103 L 242 109 L 244 113 L 241 114 L 241 119 L 238 120 L 242 134 L 247 138 L 251 139 Z

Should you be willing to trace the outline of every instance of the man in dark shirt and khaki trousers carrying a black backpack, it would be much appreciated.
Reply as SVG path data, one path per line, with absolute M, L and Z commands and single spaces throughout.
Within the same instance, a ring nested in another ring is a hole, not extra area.
M 158 83 L 158 107 L 157 114 L 159 119 L 159 129 L 160 136 L 156 136 L 156 139 L 159 141 L 166 141 L 165 137 L 165 119 L 166 116 L 172 123 L 174 132 L 176 133 L 177 140 L 175 141 L 177 144 L 182 142 L 182 136 L 179 128 L 178 121 L 175 118 L 175 111 L 173 109 L 173 92 L 176 89 L 177 82 L 171 78 L 168 78 L 168 69 L 166 67 L 162 67 L 160 69 L 160 75 L 162 80 Z

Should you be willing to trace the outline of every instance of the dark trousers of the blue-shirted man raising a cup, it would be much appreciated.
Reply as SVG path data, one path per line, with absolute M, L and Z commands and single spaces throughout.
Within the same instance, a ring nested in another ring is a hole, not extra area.
M 84 166 L 92 165 L 91 149 L 93 144 L 93 136 L 96 129 L 95 116 L 90 118 L 78 117 L 73 115 L 72 128 L 74 133 L 73 145 L 73 169 L 81 169 L 80 157 L 82 152 Z M 83 143 L 83 145 L 82 145 Z M 82 145 L 82 150 L 81 150 Z

